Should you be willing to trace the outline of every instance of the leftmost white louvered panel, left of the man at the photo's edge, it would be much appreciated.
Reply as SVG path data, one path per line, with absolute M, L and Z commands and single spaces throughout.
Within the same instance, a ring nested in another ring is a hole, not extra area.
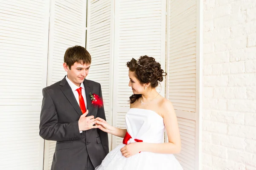
M 2 0 L 0 11 L 0 169 L 38 170 L 43 162 L 38 131 L 49 0 Z

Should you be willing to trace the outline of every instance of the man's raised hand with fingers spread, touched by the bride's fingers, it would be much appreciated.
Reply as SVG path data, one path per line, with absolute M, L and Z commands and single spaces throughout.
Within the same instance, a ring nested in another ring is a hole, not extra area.
M 96 123 L 94 116 L 87 116 L 89 111 L 87 110 L 84 114 L 82 114 L 78 120 L 79 131 L 89 130 L 93 128 L 98 128 L 98 125 L 93 126 Z

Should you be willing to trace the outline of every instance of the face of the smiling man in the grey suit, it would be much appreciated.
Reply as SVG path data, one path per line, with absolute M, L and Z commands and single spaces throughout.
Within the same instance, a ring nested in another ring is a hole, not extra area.
M 65 71 L 67 71 L 67 78 L 79 87 L 89 73 L 90 64 L 82 65 L 79 62 L 75 62 L 74 65 L 69 68 L 64 62 L 63 67 Z

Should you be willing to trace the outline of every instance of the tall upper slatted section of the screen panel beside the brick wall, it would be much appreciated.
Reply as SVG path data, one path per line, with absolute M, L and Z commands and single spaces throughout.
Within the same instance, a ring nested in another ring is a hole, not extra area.
M 195 112 L 196 1 L 170 0 L 169 9 L 168 98 L 175 109 Z

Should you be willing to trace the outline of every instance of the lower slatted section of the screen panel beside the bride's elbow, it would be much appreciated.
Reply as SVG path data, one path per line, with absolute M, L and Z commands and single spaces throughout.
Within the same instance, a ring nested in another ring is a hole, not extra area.
M 195 121 L 177 117 L 180 138 L 181 152 L 175 157 L 184 170 L 195 170 Z

